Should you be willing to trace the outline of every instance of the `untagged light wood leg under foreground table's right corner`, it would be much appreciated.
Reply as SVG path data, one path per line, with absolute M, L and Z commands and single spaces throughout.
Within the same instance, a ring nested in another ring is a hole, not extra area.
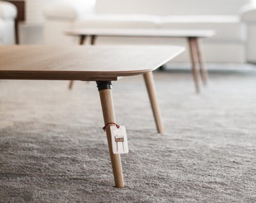
M 145 84 L 147 86 L 148 89 L 148 96 L 151 102 L 151 108 L 154 114 L 154 120 L 156 122 L 157 125 L 157 132 L 163 134 L 163 123 L 161 120 L 161 115 L 160 115 L 160 108 L 157 102 L 157 91 L 155 89 L 155 85 L 154 85 L 154 77 L 153 77 L 153 73 L 152 71 L 149 71 L 145 74 L 143 74 L 144 76 L 144 80 L 145 80 Z

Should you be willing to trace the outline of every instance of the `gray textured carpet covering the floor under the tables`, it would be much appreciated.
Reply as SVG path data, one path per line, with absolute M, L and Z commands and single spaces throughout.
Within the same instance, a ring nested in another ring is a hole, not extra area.
M 0 81 L 0 201 L 256 202 L 256 68 L 211 71 L 199 95 L 187 71 L 154 77 L 165 135 L 142 77 L 114 82 L 130 147 L 123 189 L 95 83 Z

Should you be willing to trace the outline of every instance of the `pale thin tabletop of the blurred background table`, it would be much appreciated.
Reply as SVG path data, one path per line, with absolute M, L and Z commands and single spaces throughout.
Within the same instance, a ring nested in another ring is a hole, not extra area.
M 211 29 L 72 29 L 66 35 L 99 35 L 123 37 L 209 38 L 215 35 Z

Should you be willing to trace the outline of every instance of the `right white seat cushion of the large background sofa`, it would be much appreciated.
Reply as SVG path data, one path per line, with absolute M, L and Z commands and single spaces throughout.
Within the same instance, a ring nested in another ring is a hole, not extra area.
M 160 29 L 213 29 L 211 40 L 245 41 L 243 24 L 236 16 L 169 16 L 162 17 Z

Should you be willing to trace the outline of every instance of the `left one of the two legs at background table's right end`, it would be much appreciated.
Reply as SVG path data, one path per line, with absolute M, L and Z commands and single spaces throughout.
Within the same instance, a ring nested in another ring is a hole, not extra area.
M 196 86 L 196 91 L 200 92 L 200 84 L 199 84 L 199 73 L 198 73 L 198 56 L 197 56 L 197 40 L 196 38 L 188 38 L 188 44 L 190 47 L 190 59 L 192 62 L 192 70 L 194 83 Z

